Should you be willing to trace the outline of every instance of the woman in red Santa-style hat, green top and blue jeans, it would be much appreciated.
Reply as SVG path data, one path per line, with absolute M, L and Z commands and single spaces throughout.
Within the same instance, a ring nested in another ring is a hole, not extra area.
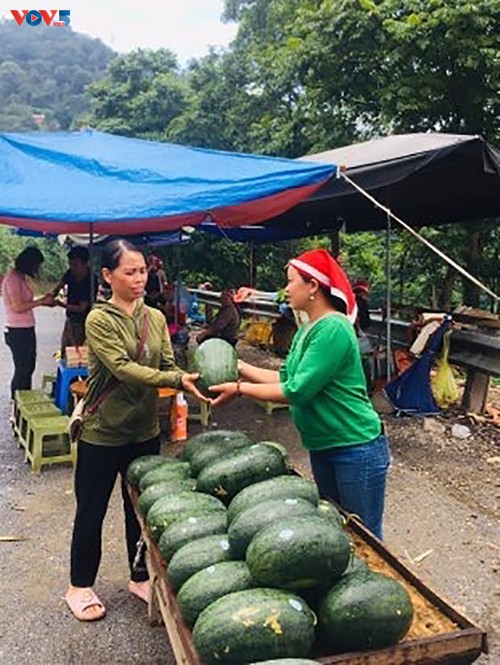
M 366 392 L 354 329 L 357 307 L 349 281 L 323 249 L 292 259 L 290 307 L 308 315 L 280 371 L 238 362 L 241 378 L 210 386 L 213 406 L 244 395 L 290 405 L 309 451 L 320 494 L 382 538 L 389 444 Z

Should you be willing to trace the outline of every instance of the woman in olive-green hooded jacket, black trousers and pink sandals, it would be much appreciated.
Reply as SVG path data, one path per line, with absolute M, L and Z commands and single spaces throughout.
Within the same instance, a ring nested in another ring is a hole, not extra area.
M 97 303 L 86 321 L 89 376 L 78 441 L 71 576 L 65 596 L 80 621 L 102 619 L 106 612 L 92 587 L 101 560 L 103 520 L 119 475 L 128 590 L 145 601 L 150 596 L 143 555 L 135 561 L 141 532 L 126 471 L 137 457 L 160 451 L 157 389 L 176 388 L 207 401 L 194 384 L 199 375 L 175 365 L 163 314 L 143 302 L 147 269 L 141 252 L 125 240 L 115 240 L 104 248 L 102 266 L 112 297 Z

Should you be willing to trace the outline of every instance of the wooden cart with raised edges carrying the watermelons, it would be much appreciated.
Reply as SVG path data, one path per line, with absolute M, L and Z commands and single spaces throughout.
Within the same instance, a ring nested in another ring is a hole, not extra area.
M 137 490 L 130 488 L 130 495 L 148 548 L 153 589 L 149 619 L 152 624 L 165 624 L 178 665 L 202 665 L 168 582 L 165 562 L 137 508 Z M 408 634 L 395 646 L 339 655 L 321 653 L 318 647 L 312 658 L 324 665 L 469 665 L 481 652 L 487 652 L 486 634 L 431 591 L 360 523 L 350 522 L 348 531 L 356 553 L 371 569 L 405 586 L 413 601 L 414 620 Z

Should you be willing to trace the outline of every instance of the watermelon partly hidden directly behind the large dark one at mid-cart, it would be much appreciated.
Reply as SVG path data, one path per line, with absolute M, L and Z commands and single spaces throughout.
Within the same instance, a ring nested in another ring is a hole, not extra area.
M 261 529 L 287 517 L 316 515 L 316 507 L 304 499 L 276 499 L 247 508 L 231 522 L 228 538 L 235 558 L 245 558 L 250 541 Z M 264 586 L 274 586 L 265 584 Z

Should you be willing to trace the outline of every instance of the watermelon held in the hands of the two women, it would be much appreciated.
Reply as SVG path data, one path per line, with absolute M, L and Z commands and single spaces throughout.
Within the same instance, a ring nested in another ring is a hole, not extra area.
M 206 397 L 216 397 L 209 386 L 238 379 L 238 356 L 229 342 L 207 339 L 194 352 L 193 370 L 200 373 L 197 381 L 200 392 Z

